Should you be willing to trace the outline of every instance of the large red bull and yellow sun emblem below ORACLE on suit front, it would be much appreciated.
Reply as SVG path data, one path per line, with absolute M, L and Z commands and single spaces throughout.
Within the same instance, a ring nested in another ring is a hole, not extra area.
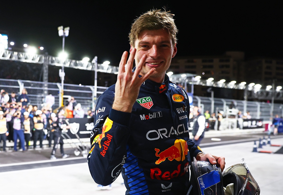
M 174 159 L 177 161 L 183 161 L 185 160 L 185 156 L 188 154 L 188 144 L 183 139 L 176 139 L 174 145 L 168 149 L 160 152 L 159 149 L 155 148 L 155 151 L 155 156 L 159 157 L 155 164 L 160 164 L 165 161 L 166 158 L 170 161 Z M 158 154 L 158 152 L 160 153 Z

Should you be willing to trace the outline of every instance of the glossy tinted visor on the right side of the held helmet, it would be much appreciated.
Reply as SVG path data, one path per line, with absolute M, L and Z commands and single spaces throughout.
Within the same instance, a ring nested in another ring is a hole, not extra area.
M 250 170 L 247 164 L 243 161 L 243 164 L 235 164 L 225 170 L 223 175 L 226 173 L 233 172 L 238 177 L 241 183 L 239 183 L 241 190 L 239 191 L 238 195 L 259 195 L 260 188 L 258 183 L 256 183 L 255 179 L 252 177 Z

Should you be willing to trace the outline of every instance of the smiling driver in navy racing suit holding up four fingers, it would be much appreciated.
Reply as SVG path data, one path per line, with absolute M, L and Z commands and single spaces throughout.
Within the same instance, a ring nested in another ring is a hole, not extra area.
M 123 53 L 116 84 L 97 101 L 88 155 L 96 183 L 107 186 L 122 172 L 126 194 L 186 194 L 193 157 L 224 169 L 224 157 L 203 154 L 189 139 L 187 95 L 166 75 L 176 34 L 166 11 L 149 11 L 132 25 L 130 56 Z

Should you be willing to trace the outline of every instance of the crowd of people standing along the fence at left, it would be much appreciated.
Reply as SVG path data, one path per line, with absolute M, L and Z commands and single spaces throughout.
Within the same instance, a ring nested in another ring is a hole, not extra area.
M 41 109 L 38 109 L 37 105 L 30 104 L 25 88 L 19 96 L 16 96 L 15 92 L 9 94 L 4 89 L 0 91 L 0 143 L 3 142 L 3 151 L 7 151 L 6 142 L 14 142 L 13 151 L 25 151 L 31 148 L 42 149 L 43 140 L 48 140 L 50 148 L 52 143 L 54 143 L 53 147 L 62 145 L 62 157 L 67 157 L 63 152 L 63 138 L 60 139 L 58 133 L 63 129 L 58 128 L 59 119 L 93 118 L 93 112 L 91 110 L 85 112 L 80 103 L 76 103 L 74 97 L 69 98 L 64 107 L 53 110 L 54 99 L 52 94 L 48 94 Z M 61 126 L 62 120 L 59 123 Z M 69 127 L 64 126 L 64 128 Z M 55 159 L 54 154 L 55 148 L 51 155 L 52 159 Z

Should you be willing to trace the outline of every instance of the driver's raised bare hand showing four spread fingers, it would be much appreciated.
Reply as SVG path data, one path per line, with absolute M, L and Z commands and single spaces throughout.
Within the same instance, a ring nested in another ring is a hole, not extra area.
M 115 98 L 112 106 L 113 109 L 118 111 L 132 112 L 132 107 L 138 98 L 141 84 L 155 71 L 155 68 L 152 68 L 144 76 L 139 78 L 138 75 L 147 56 L 145 54 L 142 56 L 140 62 L 136 65 L 136 70 L 132 72 L 135 54 L 136 49 L 133 48 L 127 61 L 128 52 L 125 51 L 119 64 Z

